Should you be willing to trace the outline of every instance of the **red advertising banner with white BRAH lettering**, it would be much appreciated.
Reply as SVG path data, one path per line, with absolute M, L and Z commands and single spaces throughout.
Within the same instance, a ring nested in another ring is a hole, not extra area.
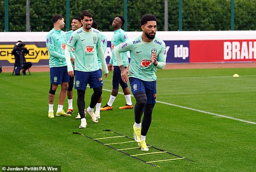
M 189 41 L 189 62 L 256 61 L 256 39 Z

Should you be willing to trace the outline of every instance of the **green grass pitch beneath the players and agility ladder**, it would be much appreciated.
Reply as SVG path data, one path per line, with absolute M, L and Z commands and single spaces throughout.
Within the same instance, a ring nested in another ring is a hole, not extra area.
M 235 73 L 240 77 L 232 77 Z M 1 73 L 0 165 L 55 165 L 61 166 L 63 172 L 256 171 L 256 68 L 158 70 L 157 77 L 158 102 L 147 144 L 194 162 L 185 159 L 155 162 L 160 168 L 153 167 L 97 141 L 72 134 L 79 132 L 92 138 L 117 136 L 103 132 L 110 129 L 132 137 L 134 112 L 118 109 L 125 104 L 122 94 L 118 94 L 113 110 L 101 112 L 99 123 L 93 123 L 87 116 L 87 127 L 79 129 L 80 120 L 75 119 L 76 90 L 74 114 L 50 119 L 47 118 L 49 73 L 23 77 Z M 112 73 L 103 80 L 103 106 L 109 99 L 111 79 Z M 59 88 L 56 93 L 55 112 Z M 91 94 L 87 89 L 86 107 Z M 132 102 L 135 104 L 134 97 Z M 65 100 L 64 109 L 67 107 Z M 101 141 L 130 140 L 120 137 Z M 115 147 L 136 147 L 136 143 Z M 149 153 L 154 151 L 149 147 Z M 127 152 L 145 153 L 140 149 Z M 176 157 L 158 153 L 140 158 L 155 161 Z

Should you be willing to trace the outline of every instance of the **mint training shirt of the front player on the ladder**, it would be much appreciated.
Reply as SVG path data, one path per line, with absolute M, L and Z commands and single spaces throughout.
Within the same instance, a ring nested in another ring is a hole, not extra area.
M 141 35 L 133 39 L 129 39 L 122 44 L 115 47 L 115 52 L 127 52 L 130 51 L 131 61 L 129 77 L 135 77 L 143 81 L 155 81 L 157 79 L 155 73 L 156 69 L 163 69 L 166 64 L 166 45 L 162 39 L 156 37 L 151 42 L 144 42 Z M 153 52 L 157 54 L 157 66 L 154 66 L 151 62 L 151 56 Z M 118 58 L 118 56 L 117 56 Z M 117 59 L 119 64 L 122 65 L 122 61 Z

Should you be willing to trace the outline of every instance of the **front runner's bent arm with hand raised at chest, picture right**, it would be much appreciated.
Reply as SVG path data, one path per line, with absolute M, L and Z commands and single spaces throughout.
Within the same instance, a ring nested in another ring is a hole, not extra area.
M 153 53 L 151 56 L 151 61 L 152 61 L 153 65 L 156 66 L 156 68 L 158 68 L 158 69 L 164 69 L 164 67 L 166 65 L 165 52 L 166 52 L 166 46 L 164 44 L 163 47 L 161 48 L 158 56 L 156 53 Z

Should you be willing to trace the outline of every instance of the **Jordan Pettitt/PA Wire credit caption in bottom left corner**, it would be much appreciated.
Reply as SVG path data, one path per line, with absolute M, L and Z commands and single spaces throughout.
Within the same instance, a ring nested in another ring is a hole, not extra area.
M 61 166 L 2 166 L 2 172 L 61 172 Z

